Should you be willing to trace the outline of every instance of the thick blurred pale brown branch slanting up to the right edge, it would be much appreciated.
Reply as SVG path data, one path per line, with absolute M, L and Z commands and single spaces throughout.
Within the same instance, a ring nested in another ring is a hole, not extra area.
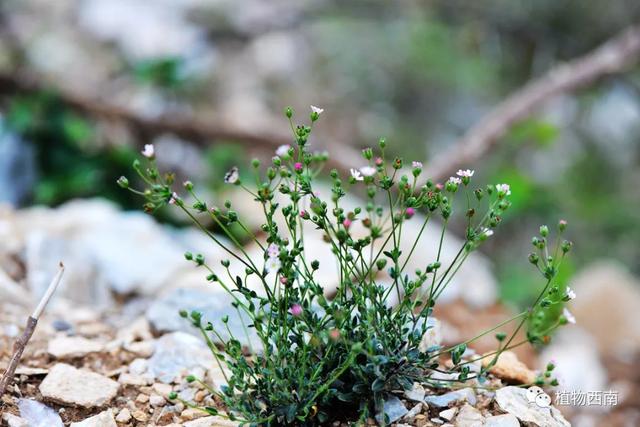
M 443 180 L 458 168 L 474 164 L 502 136 L 550 99 L 620 73 L 640 57 L 640 25 L 631 26 L 595 50 L 558 65 L 530 81 L 493 108 L 450 149 L 429 162 L 426 176 Z

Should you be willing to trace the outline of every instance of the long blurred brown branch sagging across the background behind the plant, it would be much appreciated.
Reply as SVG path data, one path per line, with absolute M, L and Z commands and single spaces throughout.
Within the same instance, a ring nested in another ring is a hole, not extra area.
M 511 126 L 527 118 L 537 108 L 563 93 L 594 83 L 599 78 L 625 71 L 640 57 L 640 26 L 631 26 L 588 54 L 552 68 L 532 80 L 498 104 L 471 127 L 450 149 L 429 162 L 425 176 L 436 181 L 445 179 L 458 168 L 474 164 L 497 145 Z M 0 73 L 0 95 L 47 90 L 35 76 L 22 70 Z M 161 134 L 174 134 L 198 145 L 219 140 L 236 141 L 250 148 L 273 150 L 289 144 L 292 137 L 270 129 L 250 130 L 187 116 L 143 117 L 134 110 L 100 99 L 83 97 L 61 89 L 55 90 L 62 102 L 100 120 L 127 125 L 138 137 L 139 145 Z M 325 142 L 333 151 L 331 166 L 343 171 L 359 162 L 359 153 L 348 144 Z

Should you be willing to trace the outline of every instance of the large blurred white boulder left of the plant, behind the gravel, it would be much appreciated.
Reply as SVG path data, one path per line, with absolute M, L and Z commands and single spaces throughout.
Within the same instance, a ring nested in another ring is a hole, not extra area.
M 190 267 L 182 257 L 188 248 L 168 228 L 104 200 L 23 210 L 15 228 L 23 236 L 29 287 L 36 295 L 46 288 L 60 259 L 67 264 L 60 295 L 94 306 L 112 303 L 110 289 L 156 295 L 169 278 L 173 281 Z

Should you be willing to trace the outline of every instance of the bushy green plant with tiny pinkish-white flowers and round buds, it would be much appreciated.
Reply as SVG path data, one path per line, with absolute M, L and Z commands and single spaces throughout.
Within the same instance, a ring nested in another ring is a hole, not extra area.
M 311 123 L 322 112 L 312 106 Z M 546 285 L 529 310 L 503 322 L 520 321 L 512 334 L 496 334 L 497 350 L 483 356 L 492 357 L 491 362 L 479 372 L 471 372 L 469 365 L 475 360 L 463 355 L 467 344 L 497 328 L 450 348 L 423 348 L 423 337 L 432 327 L 428 319 L 439 296 L 469 254 L 493 235 L 510 207 L 509 185 L 471 189 L 475 172 L 469 169 L 459 170 L 443 184 L 427 180 L 420 185 L 422 163 L 413 161 L 405 173 L 402 159 L 389 159 L 386 141 L 381 139 L 375 153 L 372 148 L 363 150 L 367 164 L 351 169 L 346 180 L 336 170 L 329 173 L 331 189 L 325 200 L 315 181 L 328 155 L 308 150 L 311 126 L 294 126 L 290 108 L 285 116 L 295 144 L 278 147 L 264 172 L 260 161 L 252 162 L 256 187 L 245 186 L 236 167 L 224 178 L 226 183 L 248 191 L 259 204 L 264 214 L 260 237 L 239 218 L 231 202 L 226 201 L 224 209 L 210 207 L 195 194 L 191 181 L 183 183 L 187 194 L 180 197 L 172 189 L 173 175 L 157 169 L 152 145 L 142 151 L 148 166 L 134 163 L 146 188 L 136 190 L 126 178 L 118 180 L 122 187 L 146 198 L 147 212 L 165 205 L 181 209 L 244 269 L 244 274 L 239 274 L 230 269 L 230 260 L 215 267 L 201 254 L 186 254 L 187 260 L 207 271 L 208 281 L 228 292 L 240 315 L 246 342 L 251 343 L 253 334 L 261 346 L 247 352 L 228 327 L 226 316 L 205 321 L 198 312 L 181 312 L 201 331 L 216 361 L 231 373 L 222 391 L 209 389 L 224 405 L 225 416 L 253 424 L 293 425 L 324 423 L 343 413 L 360 421 L 378 414 L 384 423 L 384 400 L 395 390 L 411 388 L 414 381 L 434 387 L 451 387 L 456 381 L 482 384 L 500 353 L 522 344 L 513 340 L 525 323 L 529 330 L 524 342 L 544 344 L 555 328 L 574 321 L 563 310 L 564 302 L 575 294 L 554 282 L 571 244 L 558 243 L 556 252 L 549 255 L 549 231 L 541 227 L 540 237 L 533 240 L 538 253 L 531 254 L 529 261 L 539 268 Z M 363 206 L 345 208 L 347 185 L 364 190 Z M 458 193 L 465 193 L 465 240 L 449 265 L 443 265 L 444 234 Z M 212 233 L 200 220 L 201 215 L 231 244 Z M 435 219 L 442 227 L 437 258 L 409 271 L 416 244 Z M 413 244 L 401 246 L 403 224 L 409 220 L 419 220 L 422 225 L 410 236 Z M 231 226 L 243 230 L 261 248 L 262 260 L 247 254 Z M 315 254 L 306 250 L 304 235 L 309 226 L 322 233 L 338 267 L 338 287 L 331 298 L 325 295 L 325 284 L 318 275 L 321 261 L 327 261 L 313 259 Z M 561 221 L 560 232 L 565 228 L 566 222 Z M 388 301 L 394 291 L 397 300 L 391 307 Z M 446 366 L 440 363 L 444 355 L 451 360 Z M 440 381 L 443 372 L 453 379 Z M 554 382 L 557 380 L 548 373 L 538 384 Z M 219 413 L 212 407 L 200 409 Z

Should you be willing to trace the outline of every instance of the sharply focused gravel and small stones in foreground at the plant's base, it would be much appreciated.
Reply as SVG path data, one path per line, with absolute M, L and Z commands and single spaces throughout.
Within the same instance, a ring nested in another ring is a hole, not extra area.
M 127 314 L 100 317 L 82 307 L 58 310 L 62 309 L 53 310 L 38 325 L 15 384 L 2 398 L 6 425 L 235 425 L 168 399 L 175 391 L 184 400 L 216 406 L 203 386 L 185 380 L 194 374 L 211 387 L 224 383 L 200 339 L 181 331 L 158 333 L 148 316 L 115 327 Z M 0 367 L 6 366 L 10 343 L 19 333 L 13 325 L 25 316 L 15 306 L 3 306 Z M 531 380 L 534 373 L 515 355 L 509 356 L 501 358 L 496 375 L 505 384 Z M 475 385 L 437 394 L 441 392 L 415 384 L 411 391 L 390 397 L 385 412 L 398 426 L 519 426 L 520 421 L 569 425 L 555 408 L 528 402 L 523 388 L 502 387 L 492 392 L 473 388 Z M 501 385 L 497 377 L 490 384 Z

